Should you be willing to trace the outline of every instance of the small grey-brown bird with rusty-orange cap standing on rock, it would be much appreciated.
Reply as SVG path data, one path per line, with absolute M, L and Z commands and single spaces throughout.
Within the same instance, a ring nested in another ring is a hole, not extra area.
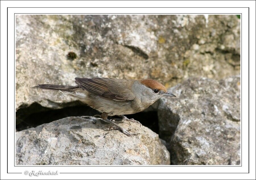
M 111 128 L 120 130 L 127 136 L 139 133 L 130 133 L 112 122 L 113 119 L 109 120 L 108 116 L 117 115 L 121 117 L 119 120 L 134 121 L 124 114 L 141 112 L 163 96 L 176 97 L 168 93 L 164 85 L 152 79 L 75 78 L 75 83 L 76 86 L 38 84 L 32 88 L 58 90 L 78 98 L 101 112 L 102 120 L 111 123 Z

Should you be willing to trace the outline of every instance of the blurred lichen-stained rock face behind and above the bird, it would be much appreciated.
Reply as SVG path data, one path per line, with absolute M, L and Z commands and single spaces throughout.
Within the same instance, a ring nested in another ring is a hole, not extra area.
M 77 58 L 67 54 L 73 51 Z M 190 76 L 240 72 L 235 15 L 16 15 L 16 110 L 75 102 L 39 83 L 74 85 L 75 77 L 153 78 L 166 86 Z

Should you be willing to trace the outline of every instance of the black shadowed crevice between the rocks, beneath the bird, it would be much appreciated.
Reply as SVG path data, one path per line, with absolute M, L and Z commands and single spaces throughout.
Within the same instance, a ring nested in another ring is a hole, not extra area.
M 86 106 L 85 104 L 78 104 L 76 106 L 69 106 L 60 109 L 51 109 L 41 106 L 38 103 L 33 103 L 28 107 L 19 108 L 16 112 L 16 131 L 37 127 L 44 123 L 62 119 L 71 116 L 93 116 L 100 114 L 97 110 Z M 126 115 L 128 118 L 134 118 L 142 125 L 150 128 L 152 131 L 159 133 L 158 115 L 156 111 L 139 112 L 135 114 Z M 110 118 L 110 117 L 109 117 Z M 111 117 L 119 118 L 119 117 Z M 110 119 L 111 119 L 110 118 Z

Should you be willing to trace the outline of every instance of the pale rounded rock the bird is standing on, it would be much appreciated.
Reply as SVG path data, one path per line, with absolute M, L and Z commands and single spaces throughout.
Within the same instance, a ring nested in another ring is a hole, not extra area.
M 92 117 L 93 118 L 93 117 Z M 138 123 L 120 124 L 137 136 L 110 130 L 110 124 L 67 117 L 16 132 L 17 165 L 152 165 L 170 164 L 158 134 Z

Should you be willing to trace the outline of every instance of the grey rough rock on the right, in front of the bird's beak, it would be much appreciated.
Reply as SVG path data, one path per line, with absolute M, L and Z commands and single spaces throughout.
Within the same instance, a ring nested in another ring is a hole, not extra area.
M 240 76 L 191 78 L 158 106 L 172 164 L 240 164 Z

